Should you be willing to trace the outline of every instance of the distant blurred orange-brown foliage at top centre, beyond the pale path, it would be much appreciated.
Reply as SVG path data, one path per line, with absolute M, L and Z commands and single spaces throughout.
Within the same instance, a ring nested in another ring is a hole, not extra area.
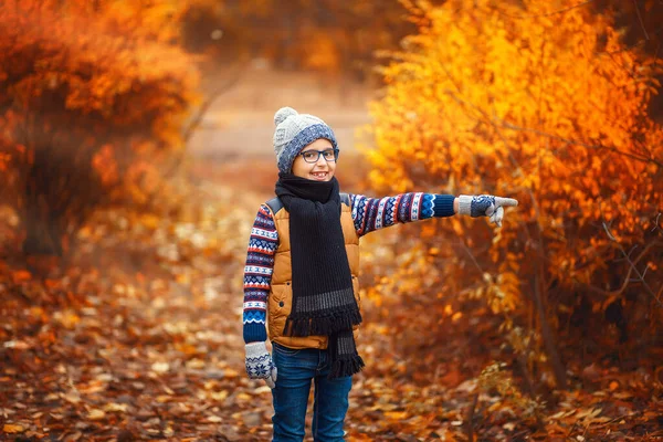
M 191 8 L 185 20 L 188 46 L 214 45 L 217 56 L 264 57 L 278 69 L 354 75 L 371 73 L 376 51 L 396 49 L 414 27 L 400 1 L 231 1 Z M 210 35 L 217 35 L 212 42 Z

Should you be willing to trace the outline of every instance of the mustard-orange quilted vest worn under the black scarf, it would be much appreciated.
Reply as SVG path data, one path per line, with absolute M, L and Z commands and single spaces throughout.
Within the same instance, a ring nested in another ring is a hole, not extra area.
M 272 273 L 272 288 L 270 290 L 270 297 L 267 299 L 267 335 L 272 343 L 277 343 L 288 348 L 327 348 L 327 336 L 283 336 L 285 320 L 293 305 L 293 270 L 290 246 L 290 214 L 282 207 L 281 202 L 277 201 L 277 199 L 274 199 L 267 203 L 276 224 L 276 232 L 278 233 L 278 248 L 274 256 L 274 271 Z M 343 228 L 346 252 L 352 275 L 352 290 L 355 291 L 357 305 L 361 308 L 359 281 L 357 278 L 359 274 L 359 236 L 355 230 L 355 222 L 352 221 L 347 194 L 341 193 L 340 208 L 340 225 Z M 355 341 L 357 341 L 358 326 L 354 327 L 354 335 Z

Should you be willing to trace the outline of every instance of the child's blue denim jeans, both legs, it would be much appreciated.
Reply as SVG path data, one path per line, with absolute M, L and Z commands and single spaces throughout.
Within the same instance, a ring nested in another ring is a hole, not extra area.
M 295 350 L 272 345 L 272 359 L 278 369 L 274 403 L 274 442 L 304 440 L 304 427 L 311 381 L 315 383 L 313 406 L 313 439 L 317 442 L 344 441 L 343 424 L 348 411 L 348 394 L 352 377 L 327 379 L 327 350 Z

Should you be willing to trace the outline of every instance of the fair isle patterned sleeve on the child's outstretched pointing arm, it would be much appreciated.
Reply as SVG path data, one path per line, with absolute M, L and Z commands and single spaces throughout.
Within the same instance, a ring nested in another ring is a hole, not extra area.
M 411 222 L 454 214 L 453 194 L 401 193 L 394 197 L 370 198 L 350 194 L 352 219 L 359 236 L 397 222 Z

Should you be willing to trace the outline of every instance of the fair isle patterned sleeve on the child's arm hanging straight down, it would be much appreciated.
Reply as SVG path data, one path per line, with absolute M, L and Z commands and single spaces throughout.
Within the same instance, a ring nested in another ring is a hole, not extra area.
M 267 207 L 262 204 L 253 222 L 246 265 L 244 266 L 244 313 L 242 317 L 244 343 L 267 340 L 265 328 L 267 296 L 274 270 L 274 254 L 278 234 Z

